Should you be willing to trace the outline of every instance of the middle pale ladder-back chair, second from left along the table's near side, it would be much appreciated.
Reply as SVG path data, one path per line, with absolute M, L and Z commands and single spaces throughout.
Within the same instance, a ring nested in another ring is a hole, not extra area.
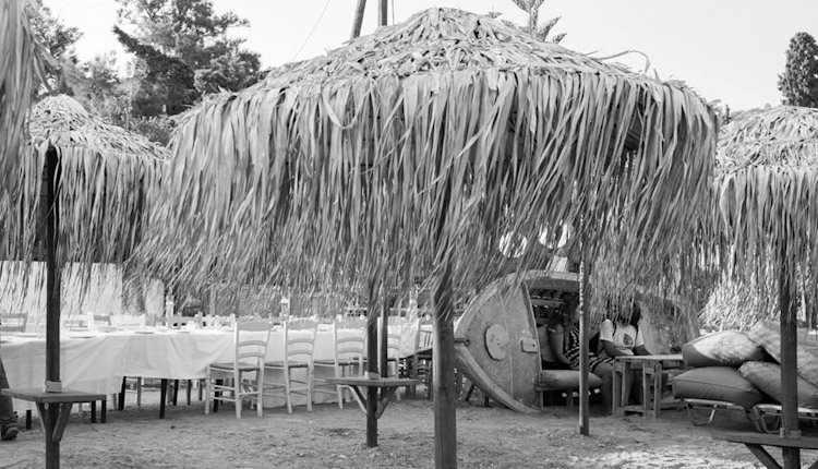
M 313 351 L 318 323 L 294 320 L 284 323 L 284 360 L 265 363 L 267 371 L 281 376 L 280 383 L 265 383 L 265 393 L 284 397 L 287 411 L 292 413 L 292 394 L 306 396 L 306 410 L 312 411 L 313 400 Z M 296 373 L 293 373 L 296 372 Z

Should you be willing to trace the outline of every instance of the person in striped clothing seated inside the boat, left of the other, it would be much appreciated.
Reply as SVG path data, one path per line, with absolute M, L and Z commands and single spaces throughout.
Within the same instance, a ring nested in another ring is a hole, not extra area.
M 569 300 L 563 305 L 562 314 L 555 315 L 555 321 L 549 328 L 549 340 L 552 352 L 557 362 L 569 370 L 579 370 L 579 308 L 576 300 Z M 608 411 L 611 410 L 613 395 L 613 359 L 599 357 L 593 350 L 588 352 L 588 368 L 591 373 L 602 380 L 602 400 Z

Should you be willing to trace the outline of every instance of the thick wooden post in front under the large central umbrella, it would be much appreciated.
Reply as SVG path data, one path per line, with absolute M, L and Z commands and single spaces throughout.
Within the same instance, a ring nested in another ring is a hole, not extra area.
M 445 248 L 444 248 L 445 249 Z M 434 460 L 437 469 L 457 468 L 457 421 L 455 410 L 455 327 L 453 323 L 452 263 L 445 256 L 434 290 Z

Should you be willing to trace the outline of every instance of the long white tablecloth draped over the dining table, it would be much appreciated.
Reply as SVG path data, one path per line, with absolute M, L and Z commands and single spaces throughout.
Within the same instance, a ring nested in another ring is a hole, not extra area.
M 339 329 L 340 336 L 362 334 L 357 329 Z M 46 341 L 43 337 L 4 335 L 0 342 L 0 358 L 5 366 L 11 387 L 39 387 L 45 381 Z M 233 335 L 230 330 L 156 330 L 71 333 L 62 332 L 60 340 L 60 381 L 65 388 L 91 393 L 119 393 L 123 376 L 169 380 L 205 377 L 208 363 L 230 362 L 233 359 Z M 332 330 L 320 329 L 315 339 L 314 359 L 332 359 Z M 273 329 L 267 348 L 267 360 L 284 359 L 284 332 Z M 318 372 L 323 377 L 326 370 Z M 275 380 L 268 376 L 267 380 Z M 265 407 L 282 405 L 282 400 L 267 399 Z M 333 400 L 329 395 L 316 396 L 316 401 Z M 33 408 L 27 401 L 14 400 L 15 410 Z

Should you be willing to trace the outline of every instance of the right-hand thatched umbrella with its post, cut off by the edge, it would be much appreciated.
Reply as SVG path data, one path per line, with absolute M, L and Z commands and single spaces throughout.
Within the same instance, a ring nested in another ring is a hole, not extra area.
M 783 106 L 732 123 L 719 141 L 715 181 L 718 226 L 733 274 L 763 279 L 772 266 L 781 320 L 782 435 L 797 436 L 793 297 L 798 270 L 811 285 L 817 275 L 818 109 Z M 784 449 L 784 461 L 801 467 L 798 449 Z

